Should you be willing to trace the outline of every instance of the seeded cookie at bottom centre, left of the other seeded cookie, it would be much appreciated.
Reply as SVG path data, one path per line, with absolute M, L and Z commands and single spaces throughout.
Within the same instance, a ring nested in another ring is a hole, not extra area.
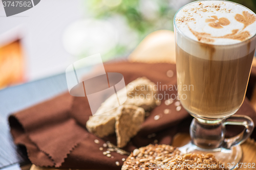
M 150 144 L 146 147 L 135 149 L 123 162 L 121 169 L 148 169 L 150 165 L 165 164 L 180 154 L 180 151 L 173 146 L 166 144 Z M 164 167 L 160 167 L 156 169 L 163 170 L 163 168 Z

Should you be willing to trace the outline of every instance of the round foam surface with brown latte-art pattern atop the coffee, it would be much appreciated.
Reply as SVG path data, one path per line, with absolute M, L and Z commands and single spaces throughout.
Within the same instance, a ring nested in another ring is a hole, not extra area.
M 233 44 L 256 34 L 256 15 L 227 1 L 201 1 L 181 9 L 175 22 L 188 37 L 209 44 Z M 242 23 L 242 24 L 241 24 Z

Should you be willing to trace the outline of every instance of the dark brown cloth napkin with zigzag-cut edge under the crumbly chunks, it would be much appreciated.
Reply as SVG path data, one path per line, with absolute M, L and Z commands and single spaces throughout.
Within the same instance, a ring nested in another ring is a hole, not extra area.
M 106 72 L 119 72 L 125 84 L 139 77 L 147 77 L 161 85 L 176 85 L 176 67 L 174 64 L 115 62 L 104 64 Z M 168 70 L 174 71 L 172 78 L 167 77 Z M 177 94 L 174 91 L 159 89 L 160 94 Z M 164 114 L 164 109 L 170 109 Z M 256 113 L 246 99 L 237 114 L 250 116 L 256 122 Z M 54 99 L 38 104 L 9 117 L 11 133 L 16 144 L 25 145 L 28 157 L 38 166 L 55 166 L 75 169 L 120 169 L 125 155 L 112 152 L 114 158 L 106 157 L 99 148 L 106 141 L 116 144 L 115 134 L 103 139 L 90 134 L 85 126 L 92 115 L 86 97 L 73 97 L 68 92 Z M 155 120 L 154 117 L 160 118 Z M 172 144 L 178 132 L 188 132 L 192 117 L 182 108 L 176 110 L 173 104 L 162 104 L 145 118 L 140 132 L 127 144 L 124 150 L 131 152 L 135 148 L 150 143 Z M 148 138 L 155 133 L 156 136 Z M 232 135 L 231 133 L 229 135 Z M 255 132 L 253 134 L 255 137 Z M 98 139 L 100 143 L 95 143 Z M 115 164 L 120 162 L 120 166 Z

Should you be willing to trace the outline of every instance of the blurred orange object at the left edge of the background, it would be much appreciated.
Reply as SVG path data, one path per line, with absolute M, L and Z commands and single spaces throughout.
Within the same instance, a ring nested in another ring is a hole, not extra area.
M 20 40 L 0 47 L 0 89 L 25 81 L 24 55 Z

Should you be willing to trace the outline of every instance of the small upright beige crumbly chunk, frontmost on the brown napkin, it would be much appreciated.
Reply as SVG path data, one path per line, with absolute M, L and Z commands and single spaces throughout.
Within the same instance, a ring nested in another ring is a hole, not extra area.
M 123 148 L 140 130 L 144 122 L 145 111 L 141 107 L 122 105 L 117 109 L 116 137 L 117 147 Z

